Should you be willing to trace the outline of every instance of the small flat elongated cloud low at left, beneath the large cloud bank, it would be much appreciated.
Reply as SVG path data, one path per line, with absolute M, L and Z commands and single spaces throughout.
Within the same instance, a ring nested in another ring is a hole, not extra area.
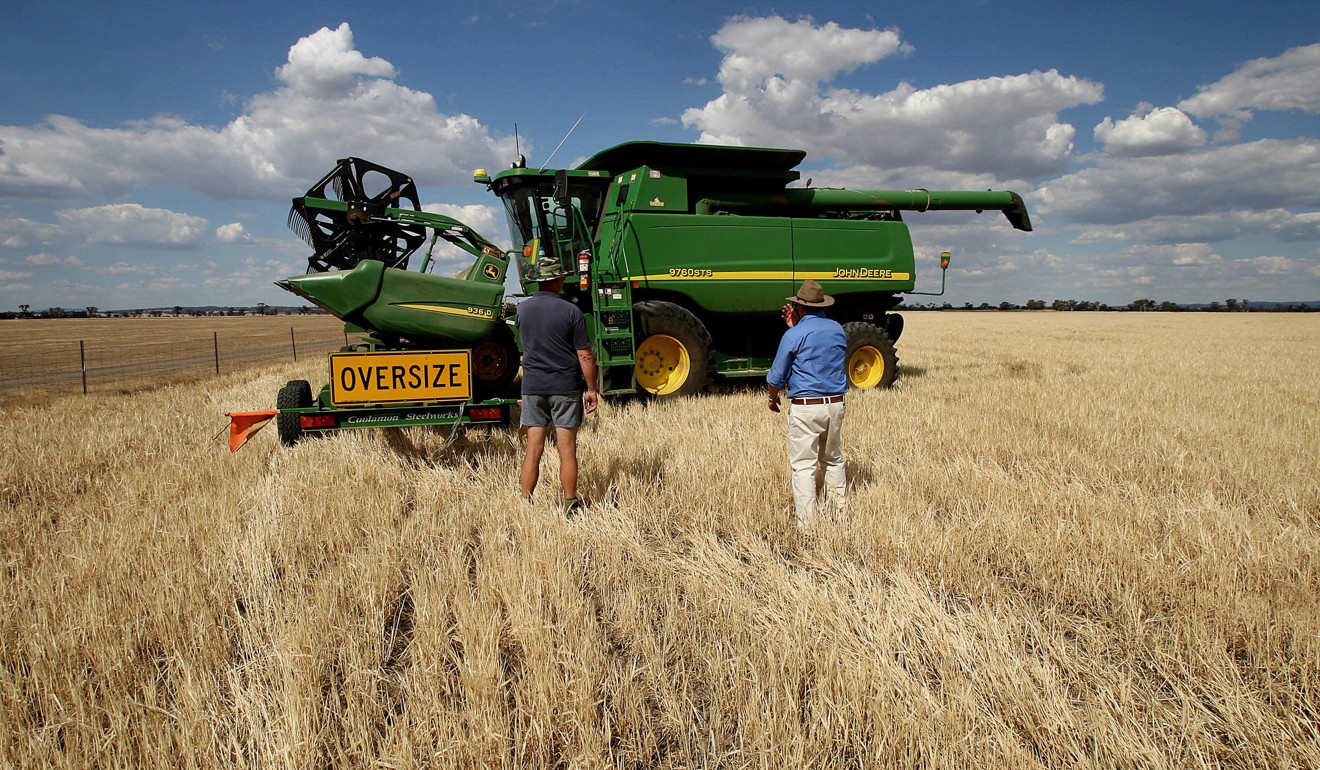
M 168 209 L 147 209 L 137 203 L 111 203 L 90 209 L 65 209 L 55 218 L 69 234 L 87 243 L 114 243 L 145 248 L 193 248 L 207 222 L 191 214 Z

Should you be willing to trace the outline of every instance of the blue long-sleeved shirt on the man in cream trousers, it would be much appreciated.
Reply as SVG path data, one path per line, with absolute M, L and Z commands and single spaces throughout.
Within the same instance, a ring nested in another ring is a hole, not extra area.
M 847 335 L 837 321 L 821 310 L 810 310 L 792 329 L 784 332 L 775 353 L 775 363 L 766 382 L 788 388 L 788 395 L 836 396 L 847 390 L 843 354 Z

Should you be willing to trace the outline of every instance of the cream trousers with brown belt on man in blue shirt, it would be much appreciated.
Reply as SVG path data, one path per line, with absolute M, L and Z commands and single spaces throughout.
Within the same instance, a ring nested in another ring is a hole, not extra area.
M 816 520 L 816 498 L 824 477 L 824 493 L 837 518 L 847 505 L 843 474 L 843 402 L 789 404 L 788 465 L 793 472 L 793 508 L 797 528 L 807 531 Z

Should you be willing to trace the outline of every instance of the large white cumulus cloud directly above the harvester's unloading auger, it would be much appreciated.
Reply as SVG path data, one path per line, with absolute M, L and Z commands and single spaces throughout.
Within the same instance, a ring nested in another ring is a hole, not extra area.
M 929 166 L 998 178 L 1064 170 L 1076 128 L 1059 112 L 1093 104 L 1098 83 L 1056 70 L 884 94 L 829 86 L 840 74 L 911 50 L 898 30 L 843 29 L 779 17 L 730 20 L 723 94 L 682 114 L 701 141 L 807 145 L 841 165 Z

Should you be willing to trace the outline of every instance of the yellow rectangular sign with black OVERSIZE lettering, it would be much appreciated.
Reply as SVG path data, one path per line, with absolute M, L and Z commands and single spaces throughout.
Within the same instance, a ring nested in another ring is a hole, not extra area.
M 471 398 L 469 350 L 330 354 L 330 400 L 337 405 Z

